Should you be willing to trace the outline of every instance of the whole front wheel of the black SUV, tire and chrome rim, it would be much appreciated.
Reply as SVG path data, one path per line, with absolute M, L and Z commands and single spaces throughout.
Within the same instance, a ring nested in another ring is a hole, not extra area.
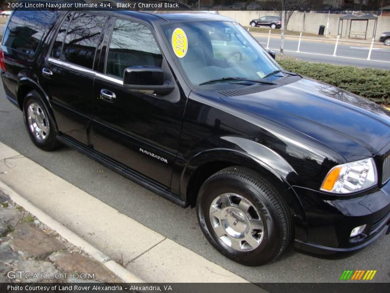
M 273 261 L 292 239 L 292 218 L 280 192 L 246 167 L 228 167 L 207 179 L 196 214 L 215 249 L 246 266 Z

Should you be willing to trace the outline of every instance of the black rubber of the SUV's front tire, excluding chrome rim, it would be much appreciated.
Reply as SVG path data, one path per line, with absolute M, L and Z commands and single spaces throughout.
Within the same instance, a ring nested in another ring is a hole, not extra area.
M 264 238 L 251 251 L 235 250 L 215 233 L 210 207 L 218 195 L 226 193 L 239 194 L 259 211 L 264 224 Z M 228 167 L 207 179 L 199 190 L 196 213 L 204 235 L 215 249 L 246 266 L 260 266 L 273 261 L 286 250 L 292 239 L 292 218 L 280 192 L 265 178 L 246 167 Z

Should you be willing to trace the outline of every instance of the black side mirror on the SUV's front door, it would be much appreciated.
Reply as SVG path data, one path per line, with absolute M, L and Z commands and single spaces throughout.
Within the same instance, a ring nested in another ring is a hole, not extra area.
M 123 73 L 123 86 L 134 90 L 149 90 L 158 95 L 169 94 L 174 84 L 164 82 L 164 71 L 155 66 L 127 67 Z

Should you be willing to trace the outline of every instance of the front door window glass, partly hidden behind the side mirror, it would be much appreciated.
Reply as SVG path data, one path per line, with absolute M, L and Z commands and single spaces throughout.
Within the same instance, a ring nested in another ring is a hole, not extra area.
M 108 48 L 106 74 L 123 77 L 130 66 L 161 67 L 162 55 L 150 29 L 140 23 L 117 20 Z

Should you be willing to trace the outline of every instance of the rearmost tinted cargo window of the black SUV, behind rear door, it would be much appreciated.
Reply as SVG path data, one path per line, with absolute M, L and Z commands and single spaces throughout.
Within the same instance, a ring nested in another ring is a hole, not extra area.
M 4 35 L 4 45 L 33 55 L 55 21 L 54 11 L 16 10 Z

